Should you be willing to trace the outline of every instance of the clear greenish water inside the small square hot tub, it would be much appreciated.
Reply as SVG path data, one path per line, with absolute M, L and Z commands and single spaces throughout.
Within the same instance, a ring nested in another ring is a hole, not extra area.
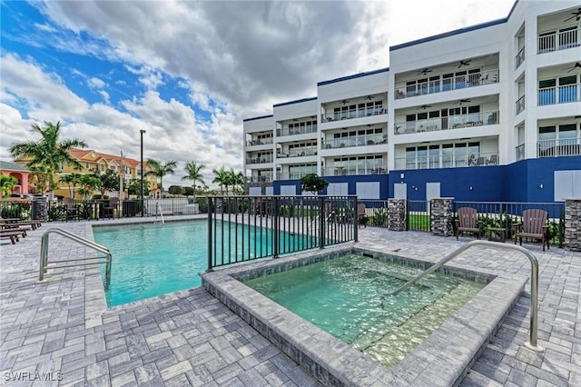
M 434 273 L 397 296 L 386 296 L 419 273 L 407 265 L 348 255 L 244 283 L 390 367 L 486 285 Z

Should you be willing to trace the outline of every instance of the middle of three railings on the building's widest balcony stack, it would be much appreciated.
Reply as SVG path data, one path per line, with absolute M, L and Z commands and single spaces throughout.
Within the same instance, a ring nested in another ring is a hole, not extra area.
M 447 129 L 458 129 L 470 126 L 498 124 L 498 111 L 450 115 L 448 117 L 428 118 L 427 120 L 396 123 L 396 134 L 433 132 Z

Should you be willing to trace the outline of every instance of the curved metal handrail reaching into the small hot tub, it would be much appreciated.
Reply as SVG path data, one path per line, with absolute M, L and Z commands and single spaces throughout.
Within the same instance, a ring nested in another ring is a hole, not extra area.
M 452 253 L 449 253 L 446 257 L 442 258 L 437 263 L 434 263 L 433 266 L 431 266 L 425 272 L 420 273 L 416 278 L 414 278 L 414 279 L 410 280 L 408 283 L 405 283 L 402 286 L 400 286 L 399 289 L 396 290 L 395 292 L 385 294 L 384 296 L 382 296 L 381 304 L 383 305 L 383 299 L 385 298 L 385 296 L 399 294 L 403 290 L 409 288 L 409 286 L 411 286 L 412 284 L 417 283 L 420 279 L 424 278 L 429 273 L 433 273 L 433 272 L 437 271 L 445 263 L 448 263 L 448 261 L 451 261 L 452 259 L 456 258 L 460 253 L 464 253 L 470 247 L 476 246 L 478 244 L 485 245 L 485 246 L 504 247 L 507 249 L 517 250 L 518 252 L 524 253 L 525 255 L 527 255 L 528 261 L 530 261 L 530 268 L 531 268 L 531 273 L 530 273 L 530 279 L 531 279 L 531 282 L 530 282 L 530 296 L 531 297 L 530 297 L 530 299 L 531 300 L 530 300 L 530 341 L 525 342 L 525 346 L 530 350 L 533 350 L 536 352 L 543 352 L 544 351 L 543 348 L 537 344 L 538 262 L 537 262 L 537 258 L 535 257 L 535 255 L 533 255 L 533 253 L 529 252 L 526 248 L 521 247 L 521 246 L 517 246 L 514 244 L 488 242 L 488 241 L 472 241 L 472 242 L 466 243 L 465 245 L 463 245 L 462 247 L 459 247 L 457 250 L 453 251 Z

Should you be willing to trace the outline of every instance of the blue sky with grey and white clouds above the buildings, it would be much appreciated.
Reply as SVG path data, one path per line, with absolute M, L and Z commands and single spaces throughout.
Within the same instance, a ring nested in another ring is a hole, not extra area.
M 512 0 L 0 0 L 0 159 L 61 121 L 90 149 L 242 167 L 242 119 L 389 66 L 389 45 L 508 15 Z M 165 182 L 166 179 L 164 179 Z

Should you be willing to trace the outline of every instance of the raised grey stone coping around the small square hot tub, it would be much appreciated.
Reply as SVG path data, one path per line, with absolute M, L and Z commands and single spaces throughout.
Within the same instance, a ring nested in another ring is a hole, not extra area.
M 505 273 L 448 263 L 442 268 L 443 273 L 467 274 L 477 281 L 489 281 L 487 286 L 388 369 L 239 281 L 345 253 L 369 253 L 386 260 L 395 256 L 426 268 L 432 264 L 348 243 L 201 273 L 202 286 L 325 385 L 452 386 L 458 385 L 476 362 L 527 283 L 527 277 L 522 275 L 508 277 Z

